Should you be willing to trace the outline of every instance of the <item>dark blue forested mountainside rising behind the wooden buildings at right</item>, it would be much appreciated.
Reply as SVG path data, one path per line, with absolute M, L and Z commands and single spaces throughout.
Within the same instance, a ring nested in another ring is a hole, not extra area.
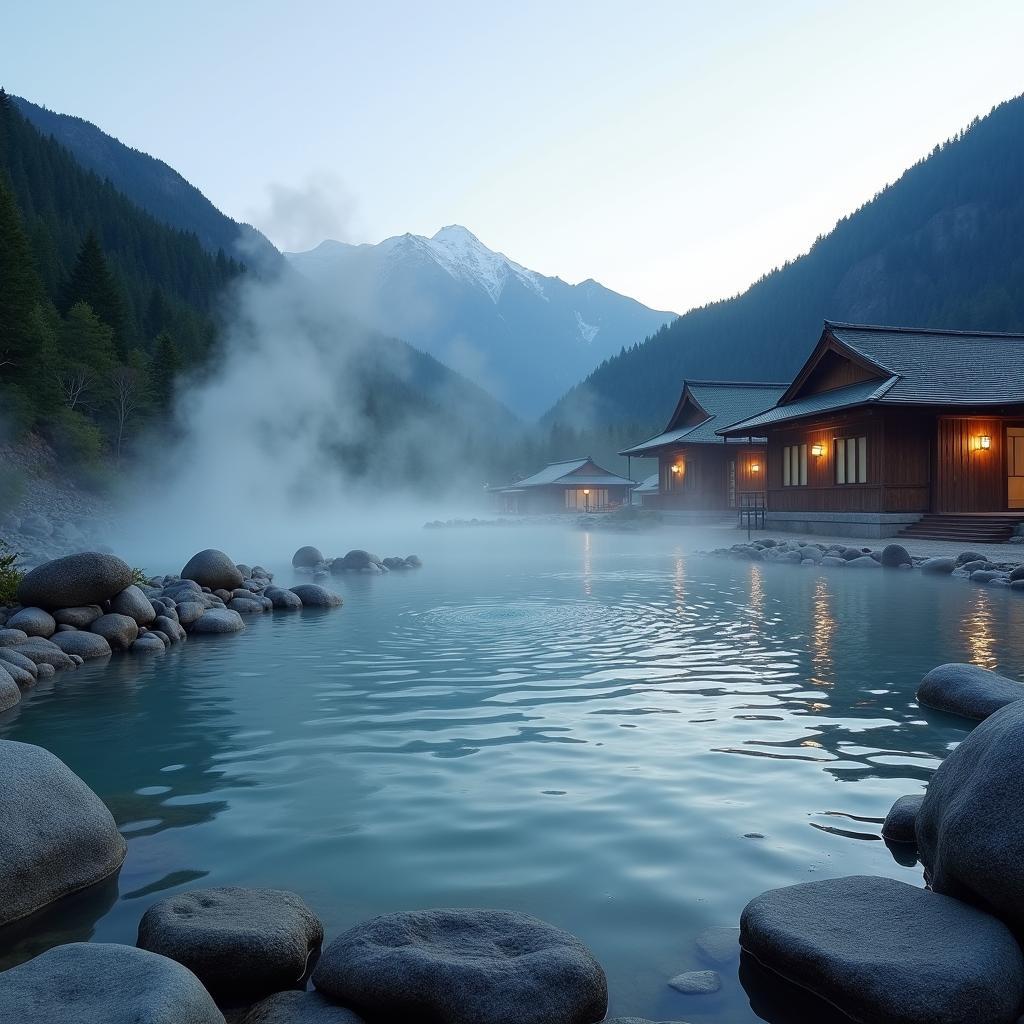
M 1022 331 L 1021 238 L 1024 97 L 936 146 L 806 255 L 608 359 L 546 420 L 659 427 L 686 377 L 790 379 L 825 318 Z

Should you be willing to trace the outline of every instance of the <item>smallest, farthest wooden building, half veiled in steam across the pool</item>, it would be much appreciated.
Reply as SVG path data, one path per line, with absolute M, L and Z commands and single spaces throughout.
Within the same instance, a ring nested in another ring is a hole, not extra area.
M 602 469 L 590 457 L 554 462 L 507 487 L 494 488 L 502 512 L 607 512 L 629 505 L 635 481 Z

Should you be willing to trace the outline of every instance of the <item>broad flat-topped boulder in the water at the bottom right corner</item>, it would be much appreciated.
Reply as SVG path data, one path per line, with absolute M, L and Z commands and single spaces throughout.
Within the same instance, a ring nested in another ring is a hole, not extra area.
M 1024 1004 L 1024 956 L 1005 925 L 892 879 L 763 893 L 743 910 L 740 942 L 855 1021 L 1013 1024 Z

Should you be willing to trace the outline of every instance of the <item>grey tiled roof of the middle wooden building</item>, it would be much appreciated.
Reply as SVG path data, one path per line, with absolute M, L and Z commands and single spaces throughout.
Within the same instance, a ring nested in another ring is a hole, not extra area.
M 618 454 L 650 456 L 675 444 L 721 444 L 717 429 L 768 409 L 785 389 L 785 384 L 685 381 L 665 430 Z

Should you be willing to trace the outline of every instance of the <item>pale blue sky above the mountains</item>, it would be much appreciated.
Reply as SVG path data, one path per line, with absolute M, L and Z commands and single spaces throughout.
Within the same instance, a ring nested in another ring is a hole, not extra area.
M 283 248 L 462 223 L 683 310 L 1024 91 L 1024 4 L 9 4 L 0 84 Z

